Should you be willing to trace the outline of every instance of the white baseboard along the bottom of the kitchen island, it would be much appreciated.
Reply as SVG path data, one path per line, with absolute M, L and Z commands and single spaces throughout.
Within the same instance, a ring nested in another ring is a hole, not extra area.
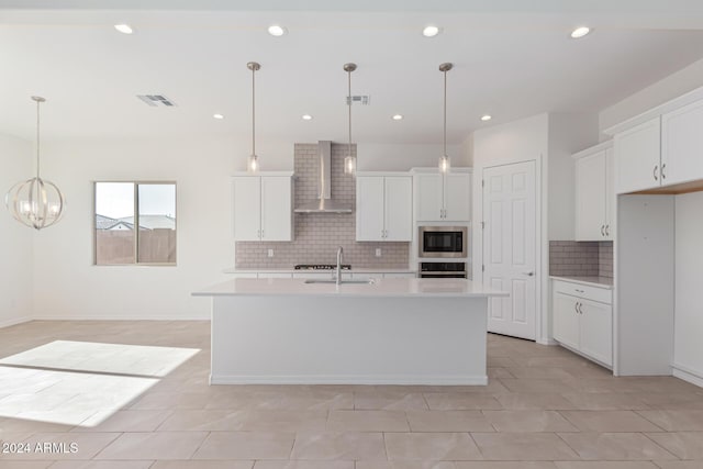
M 210 375 L 210 384 L 419 384 L 487 386 L 487 376 L 225 376 Z

